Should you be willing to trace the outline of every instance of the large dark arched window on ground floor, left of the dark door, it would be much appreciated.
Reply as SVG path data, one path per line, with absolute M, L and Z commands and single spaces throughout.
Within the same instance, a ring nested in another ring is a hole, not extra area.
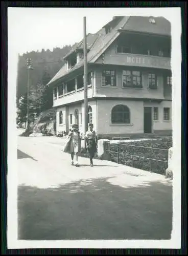
M 116 105 L 111 112 L 112 123 L 130 123 L 130 111 L 126 105 Z

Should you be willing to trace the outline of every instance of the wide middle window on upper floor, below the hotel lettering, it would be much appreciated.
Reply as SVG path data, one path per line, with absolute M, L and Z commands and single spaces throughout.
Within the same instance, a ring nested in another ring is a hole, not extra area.
M 123 70 L 123 88 L 142 87 L 141 73 L 139 71 Z

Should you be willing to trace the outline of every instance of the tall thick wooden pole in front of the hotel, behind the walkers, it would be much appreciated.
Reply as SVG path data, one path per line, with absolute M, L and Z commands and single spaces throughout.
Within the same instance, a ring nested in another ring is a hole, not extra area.
M 85 127 L 84 134 L 87 132 L 88 118 L 87 118 L 87 39 L 86 39 L 86 17 L 83 20 L 84 29 L 84 117 Z M 85 145 L 86 146 L 86 145 Z

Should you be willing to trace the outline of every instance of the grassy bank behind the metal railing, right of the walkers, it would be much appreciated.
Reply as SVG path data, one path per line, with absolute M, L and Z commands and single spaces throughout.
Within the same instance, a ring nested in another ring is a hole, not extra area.
M 172 137 L 164 137 L 157 140 L 110 143 L 108 150 L 113 162 L 143 170 L 150 170 L 150 160 L 144 158 L 151 158 L 151 172 L 164 175 L 168 167 L 168 149 L 171 146 Z

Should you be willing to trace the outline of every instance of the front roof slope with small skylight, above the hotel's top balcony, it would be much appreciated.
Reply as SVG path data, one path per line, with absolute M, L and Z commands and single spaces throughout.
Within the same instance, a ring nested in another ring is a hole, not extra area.
M 155 23 L 150 23 L 149 18 L 153 18 Z M 164 17 L 130 16 L 122 29 L 171 36 L 171 23 Z

